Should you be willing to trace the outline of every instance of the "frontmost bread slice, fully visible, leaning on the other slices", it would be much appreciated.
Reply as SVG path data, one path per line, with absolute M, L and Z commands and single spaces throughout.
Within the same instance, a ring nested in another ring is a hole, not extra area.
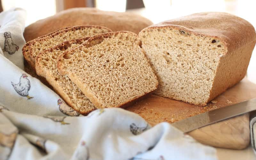
M 59 57 L 58 71 L 97 108 L 125 106 L 158 85 L 139 37 L 128 31 L 92 36 Z

